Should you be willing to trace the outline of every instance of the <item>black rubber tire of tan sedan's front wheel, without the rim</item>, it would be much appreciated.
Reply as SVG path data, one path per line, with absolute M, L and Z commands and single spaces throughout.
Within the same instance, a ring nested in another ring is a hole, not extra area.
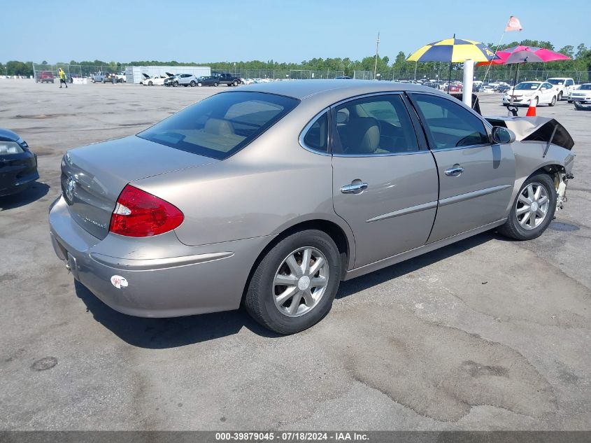
M 521 192 L 527 188 L 528 185 L 532 183 L 539 183 L 544 188 L 546 188 L 546 193 L 548 195 L 548 210 L 546 211 L 546 218 L 542 220 L 539 226 L 536 226 L 532 229 L 525 229 L 522 227 L 518 221 L 517 216 L 517 204 L 519 196 Z M 499 234 L 504 235 L 505 237 L 509 237 L 510 239 L 515 240 L 532 240 L 536 237 L 540 237 L 541 234 L 546 230 L 552 219 L 554 218 L 554 213 L 556 211 L 556 189 L 554 188 L 554 181 L 548 174 L 536 174 L 534 176 L 529 177 L 521 186 L 517 197 L 515 197 L 515 201 L 511 205 L 511 211 L 509 212 L 509 216 L 507 221 L 504 225 L 501 225 L 497 228 Z

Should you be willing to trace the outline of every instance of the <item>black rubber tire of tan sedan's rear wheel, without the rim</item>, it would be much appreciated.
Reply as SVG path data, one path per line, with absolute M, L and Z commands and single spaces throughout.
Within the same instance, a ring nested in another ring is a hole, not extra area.
M 318 304 L 301 316 L 282 314 L 273 300 L 273 281 L 283 260 L 298 248 L 310 246 L 325 255 L 329 266 L 325 293 Z M 310 328 L 328 314 L 341 283 L 341 256 L 333 239 L 319 230 L 295 232 L 266 253 L 252 274 L 245 295 L 245 308 L 258 323 L 280 334 L 294 334 Z

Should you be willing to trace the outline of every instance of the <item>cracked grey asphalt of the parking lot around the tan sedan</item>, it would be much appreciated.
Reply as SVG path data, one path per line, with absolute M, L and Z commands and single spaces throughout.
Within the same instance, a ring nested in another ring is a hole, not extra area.
M 577 155 L 543 236 L 487 232 L 344 282 L 300 334 L 244 311 L 125 316 L 74 283 L 47 221 L 64 152 L 220 89 L 0 79 L 0 127 L 41 174 L 0 199 L 0 430 L 591 429 L 591 112 L 566 101 L 538 108 Z

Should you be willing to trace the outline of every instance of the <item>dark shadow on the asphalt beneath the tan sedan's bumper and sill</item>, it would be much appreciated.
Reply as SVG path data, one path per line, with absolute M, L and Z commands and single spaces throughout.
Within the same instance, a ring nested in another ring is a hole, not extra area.
M 486 232 L 357 279 L 343 281 L 336 298 L 348 297 L 498 238 L 501 237 L 492 232 Z M 140 348 L 167 349 L 206 342 L 234 335 L 242 328 L 247 328 L 262 337 L 282 337 L 256 323 L 244 309 L 177 318 L 140 318 L 111 309 L 78 281 L 75 281 L 75 288 L 76 295 L 84 302 L 87 311 L 92 313 L 94 320 L 111 330 L 124 342 Z

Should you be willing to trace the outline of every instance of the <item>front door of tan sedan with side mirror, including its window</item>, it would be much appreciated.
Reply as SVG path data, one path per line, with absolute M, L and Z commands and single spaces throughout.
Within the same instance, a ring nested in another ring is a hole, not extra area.
M 482 118 L 460 101 L 411 93 L 439 175 L 437 216 L 428 243 L 507 216 L 515 183 L 510 144 L 492 144 Z

